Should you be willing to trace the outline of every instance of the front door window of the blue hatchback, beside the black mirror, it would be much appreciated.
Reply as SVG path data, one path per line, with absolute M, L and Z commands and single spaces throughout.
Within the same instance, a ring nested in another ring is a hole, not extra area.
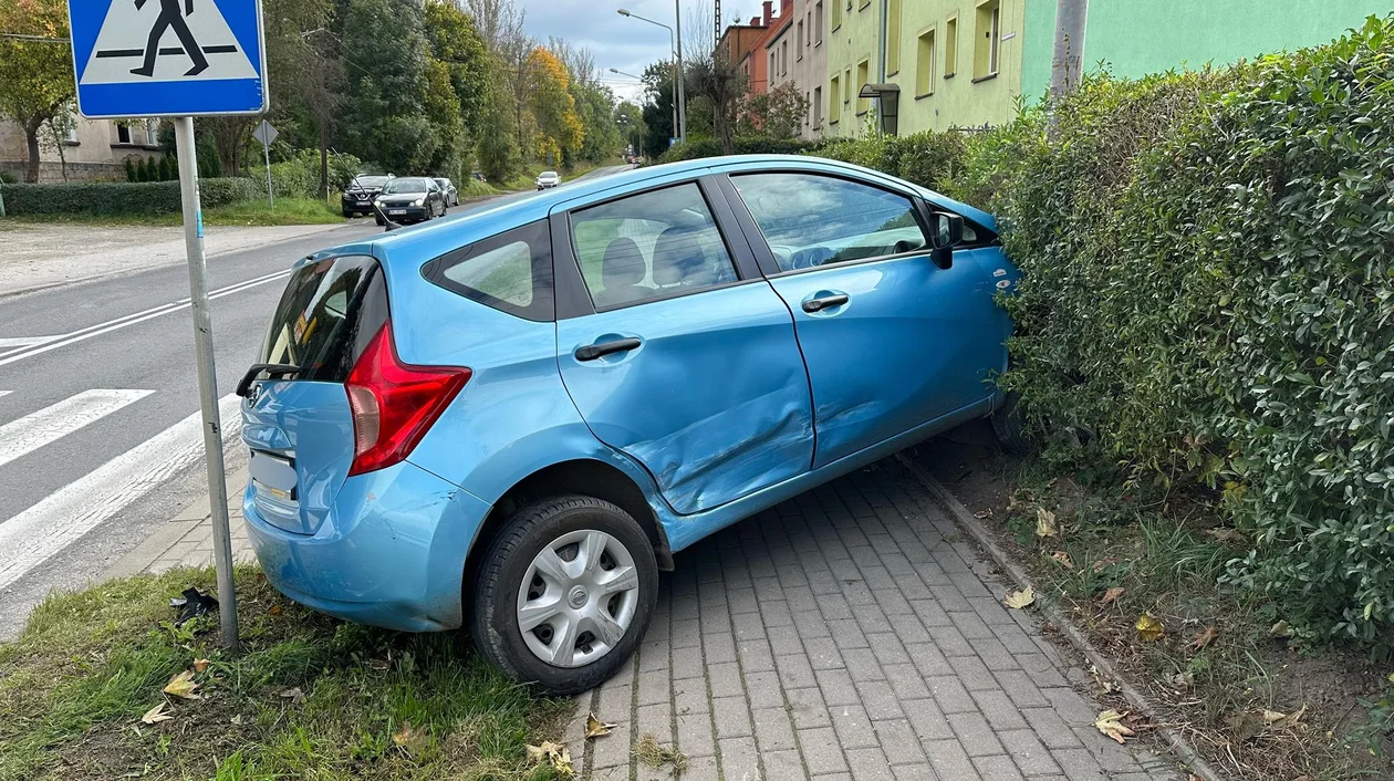
M 809 173 L 732 176 L 779 271 L 914 252 L 926 247 L 905 195 Z

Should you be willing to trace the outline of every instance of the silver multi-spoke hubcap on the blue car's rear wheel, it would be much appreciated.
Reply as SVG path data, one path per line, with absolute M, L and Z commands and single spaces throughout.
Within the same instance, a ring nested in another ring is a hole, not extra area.
M 638 570 L 619 540 L 583 529 L 548 543 L 519 587 L 523 642 L 555 667 L 583 667 L 619 644 L 638 605 Z

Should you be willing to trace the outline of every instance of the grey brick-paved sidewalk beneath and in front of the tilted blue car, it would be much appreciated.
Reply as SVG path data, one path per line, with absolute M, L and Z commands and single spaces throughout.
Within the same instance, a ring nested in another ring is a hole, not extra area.
M 895 460 L 679 554 L 630 662 L 569 731 L 581 778 L 1161 781 L 1093 727 L 1089 676 L 1001 604 L 977 551 Z M 585 746 L 587 711 L 619 727 Z

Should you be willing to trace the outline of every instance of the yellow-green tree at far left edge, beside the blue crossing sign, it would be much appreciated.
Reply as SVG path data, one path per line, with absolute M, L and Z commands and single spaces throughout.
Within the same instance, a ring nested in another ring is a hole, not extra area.
M 39 181 L 39 134 L 72 100 L 72 49 L 63 0 L 13 0 L 0 6 L 0 29 L 46 40 L 0 38 L 0 117 L 24 130 L 29 165 Z

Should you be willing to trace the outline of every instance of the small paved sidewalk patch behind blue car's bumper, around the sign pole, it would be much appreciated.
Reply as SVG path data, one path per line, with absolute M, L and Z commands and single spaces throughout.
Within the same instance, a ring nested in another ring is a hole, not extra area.
M 255 562 L 243 522 L 243 488 L 247 467 L 227 476 L 227 515 L 233 533 L 233 559 Z M 106 577 L 125 577 L 142 572 L 160 573 L 176 566 L 213 566 L 213 522 L 208 509 L 208 495 L 195 499 L 155 534 L 120 558 L 106 572 Z

